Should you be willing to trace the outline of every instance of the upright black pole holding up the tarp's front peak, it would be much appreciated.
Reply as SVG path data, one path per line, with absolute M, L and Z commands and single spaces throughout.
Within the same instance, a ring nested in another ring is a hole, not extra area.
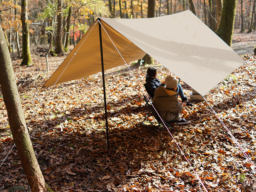
M 100 21 L 100 18 L 98 18 L 98 20 Z M 99 35 L 100 35 L 100 56 L 101 56 L 101 69 L 102 69 L 102 81 L 103 81 L 103 94 L 104 94 L 104 108 L 105 108 L 105 119 L 106 119 L 107 143 L 108 143 L 108 150 L 109 150 L 108 114 L 107 114 L 107 100 L 106 100 L 105 75 L 104 75 L 104 63 L 103 63 L 103 48 L 102 48 L 102 37 L 101 37 L 100 22 L 99 22 Z

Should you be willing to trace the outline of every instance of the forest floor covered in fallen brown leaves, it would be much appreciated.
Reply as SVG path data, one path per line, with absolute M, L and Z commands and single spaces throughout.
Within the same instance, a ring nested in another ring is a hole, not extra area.
M 246 44 L 254 38 L 255 33 L 236 33 L 233 45 Z M 66 57 L 50 57 L 50 72 L 47 73 L 45 57 L 40 55 L 44 55 L 43 49 L 35 49 L 33 65 L 20 67 L 21 60 L 16 59 L 13 68 L 34 151 L 44 179 L 52 190 L 256 190 L 253 165 L 206 101 L 194 101 L 193 107 L 184 109 L 181 115 L 191 123 L 186 126 L 174 124 L 172 135 L 165 127 L 150 135 L 147 126 L 142 124 L 148 113 L 143 92 L 127 66 L 112 68 L 105 74 L 108 150 L 101 74 L 36 92 Z M 207 101 L 255 164 L 256 57 L 250 53 L 242 57 L 247 62 L 212 89 Z M 143 85 L 149 66 L 129 65 Z M 154 67 L 162 80 L 165 76 L 174 76 L 160 64 L 156 63 Z M 192 89 L 182 81 L 181 84 L 189 96 Z M 3 96 L 0 95 L 0 163 L 13 144 Z M 23 186 L 24 191 L 30 191 L 15 147 L 0 168 L 0 191 L 7 192 L 14 186 Z

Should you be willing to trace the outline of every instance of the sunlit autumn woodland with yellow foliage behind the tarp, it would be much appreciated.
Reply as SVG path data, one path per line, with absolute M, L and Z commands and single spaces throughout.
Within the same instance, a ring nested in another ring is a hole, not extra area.
M 59 1 L 28 1 L 28 20 L 26 22 L 29 24 L 30 46 L 48 44 L 52 32 L 54 36 L 52 45 L 55 46 L 56 31 L 59 26 L 57 23 L 59 22 L 54 21 L 60 14 L 62 15 L 62 41 L 66 49 L 68 45 L 75 45 L 98 17 L 147 18 L 148 16 L 148 1 L 144 0 L 63 0 L 62 6 L 58 7 Z M 213 31 L 216 31 L 221 14 L 221 0 L 156 0 L 155 16 L 159 17 L 188 10 L 191 3 L 194 4 L 196 16 Z M 1 1 L 1 26 L 8 40 L 10 52 L 17 50 L 18 56 L 20 56 L 20 44 L 22 44 L 20 15 L 21 1 Z M 255 18 L 255 0 L 237 2 L 235 29 L 242 27 L 242 31 L 252 31 L 256 26 Z

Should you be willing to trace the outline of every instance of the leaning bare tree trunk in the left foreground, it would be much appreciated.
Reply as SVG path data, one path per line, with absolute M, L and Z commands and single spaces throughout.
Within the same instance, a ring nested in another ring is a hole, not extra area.
M 10 53 L 0 25 L 0 85 L 4 103 L 7 109 L 12 137 L 20 157 L 22 168 L 32 192 L 45 192 L 47 186 L 36 160 L 36 156 L 29 138 L 20 96 L 12 68 Z

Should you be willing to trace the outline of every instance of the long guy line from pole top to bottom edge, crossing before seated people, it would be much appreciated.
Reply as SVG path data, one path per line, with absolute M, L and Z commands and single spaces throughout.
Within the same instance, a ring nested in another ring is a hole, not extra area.
M 100 23 L 100 20 L 99 20 Z M 102 28 L 104 29 L 104 31 L 106 32 L 106 34 L 108 35 L 107 31 L 105 30 L 105 28 L 102 26 Z M 116 45 L 114 44 L 114 42 L 112 41 L 111 37 L 108 35 L 109 39 L 111 40 L 111 42 L 113 43 L 113 45 L 115 46 L 117 52 L 120 54 L 120 56 L 122 57 L 122 59 L 124 60 L 123 56 L 121 55 L 121 53 L 119 52 L 119 50 L 117 49 Z M 142 88 L 141 84 L 139 83 L 138 79 L 136 78 L 136 76 L 134 75 L 134 73 L 132 72 L 131 68 L 128 66 L 127 62 L 124 60 L 124 63 L 126 64 L 127 68 L 130 70 L 133 78 L 137 81 L 137 83 L 140 86 L 140 90 L 144 93 L 144 95 L 146 95 L 146 97 L 148 98 L 148 95 L 146 94 L 146 92 L 144 91 L 144 89 Z M 149 98 L 148 98 L 149 100 Z M 153 106 L 153 108 L 156 111 L 155 106 L 151 103 L 151 105 Z M 159 116 L 159 118 L 161 119 L 163 125 L 165 126 L 165 128 L 167 129 L 167 131 L 169 132 L 169 134 L 171 135 L 172 139 L 174 140 L 175 144 L 178 146 L 178 148 L 180 149 L 181 154 L 185 157 L 186 161 L 188 162 L 189 166 L 191 167 L 191 169 L 193 170 L 193 172 L 196 174 L 196 178 L 199 180 L 200 184 L 202 185 L 202 187 L 204 188 L 204 190 L 206 192 L 208 192 L 208 190 L 206 189 L 206 187 L 204 186 L 203 181 L 200 179 L 199 175 L 197 174 L 197 172 L 194 170 L 194 168 L 192 167 L 192 165 L 190 164 L 190 162 L 188 161 L 188 158 L 186 157 L 186 155 L 184 154 L 184 152 L 182 151 L 182 149 L 180 148 L 179 144 L 177 143 L 177 141 L 174 139 L 172 133 L 170 132 L 170 130 L 167 128 L 167 126 L 164 124 L 163 119 L 161 118 L 161 116 L 158 114 L 158 112 L 156 111 L 157 115 Z M 106 113 L 107 114 L 107 113 Z

